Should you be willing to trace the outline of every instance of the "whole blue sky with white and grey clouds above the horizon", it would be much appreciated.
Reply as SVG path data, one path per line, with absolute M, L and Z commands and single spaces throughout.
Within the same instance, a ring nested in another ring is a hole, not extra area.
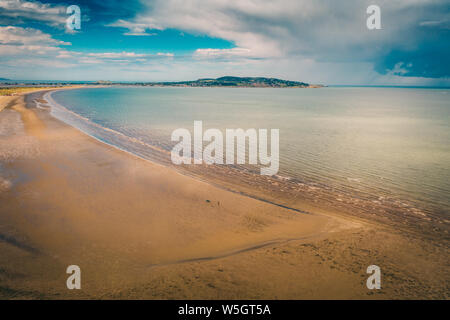
M 8 79 L 450 86 L 449 57 L 449 0 L 0 0 Z

